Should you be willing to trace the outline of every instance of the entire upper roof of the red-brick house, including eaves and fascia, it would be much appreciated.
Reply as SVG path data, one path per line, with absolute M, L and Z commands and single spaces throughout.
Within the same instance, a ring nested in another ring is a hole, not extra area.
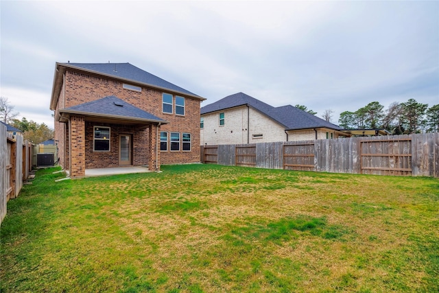
M 85 71 L 88 73 L 103 75 L 108 78 L 117 78 L 122 82 L 139 84 L 143 86 L 149 86 L 163 91 L 171 91 L 173 93 L 179 93 L 180 95 L 186 95 L 188 97 L 195 97 L 196 99 L 204 100 L 204 97 L 195 95 L 186 89 L 183 89 L 176 84 L 167 82 L 158 76 L 144 71 L 139 67 L 135 67 L 130 63 L 60 63 L 56 62 L 54 85 L 52 87 L 52 95 L 50 107 L 51 110 L 55 110 L 56 103 L 58 102 L 58 95 L 61 91 L 62 76 L 67 69 L 75 69 Z

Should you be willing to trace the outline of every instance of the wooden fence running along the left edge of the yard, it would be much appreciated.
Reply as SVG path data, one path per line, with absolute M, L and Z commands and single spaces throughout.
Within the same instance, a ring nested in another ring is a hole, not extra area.
M 23 181 L 32 170 L 32 144 L 21 135 L 12 135 L 0 125 L 0 224 L 8 200 L 19 196 Z

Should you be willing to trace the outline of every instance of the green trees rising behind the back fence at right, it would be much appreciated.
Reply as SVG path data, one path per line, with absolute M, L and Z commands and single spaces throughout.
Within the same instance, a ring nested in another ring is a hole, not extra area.
M 296 105 L 312 115 L 317 113 L 306 106 Z M 325 110 L 322 118 L 330 121 L 332 110 Z M 338 125 L 344 129 L 385 129 L 390 134 L 439 132 L 439 104 L 428 104 L 409 99 L 407 102 L 393 102 L 384 109 L 379 102 L 370 102 L 355 112 L 340 113 Z

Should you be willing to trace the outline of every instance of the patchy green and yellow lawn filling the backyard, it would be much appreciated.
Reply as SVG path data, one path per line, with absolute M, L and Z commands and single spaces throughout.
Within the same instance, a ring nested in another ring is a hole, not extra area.
M 1 292 L 438 292 L 439 180 L 218 165 L 8 202 Z

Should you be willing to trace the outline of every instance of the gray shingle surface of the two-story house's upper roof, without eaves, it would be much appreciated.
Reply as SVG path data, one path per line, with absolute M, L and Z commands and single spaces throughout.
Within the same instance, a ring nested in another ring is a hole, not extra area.
M 187 93 L 189 95 L 199 97 L 198 95 L 195 95 L 195 93 L 191 93 L 190 91 L 182 89 L 180 86 L 171 84 L 171 82 L 167 82 L 166 80 L 163 80 L 154 74 L 144 71 L 139 67 L 135 67 L 130 63 L 61 63 L 61 64 L 66 66 L 80 67 L 82 69 L 87 69 L 89 71 L 104 73 L 106 75 L 112 75 L 117 78 L 125 78 L 127 80 L 132 80 L 134 82 L 150 84 L 152 86 L 158 86 L 163 89 L 169 89 L 171 91 L 178 91 L 180 93 Z

